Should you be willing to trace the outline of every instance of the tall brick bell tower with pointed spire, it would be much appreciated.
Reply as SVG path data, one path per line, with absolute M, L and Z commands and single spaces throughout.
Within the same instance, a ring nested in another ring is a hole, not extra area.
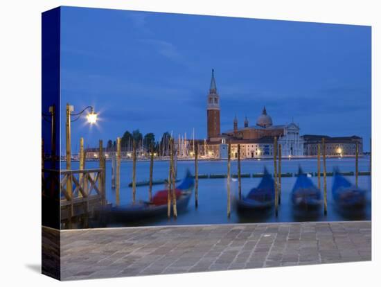
M 208 139 L 220 136 L 220 96 L 217 94 L 217 86 L 215 85 L 214 69 L 212 69 L 211 87 L 206 104 L 207 121 L 208 121 Z

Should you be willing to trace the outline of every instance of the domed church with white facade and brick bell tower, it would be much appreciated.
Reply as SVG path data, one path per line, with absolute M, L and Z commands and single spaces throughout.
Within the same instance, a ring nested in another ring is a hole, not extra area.
M 303 156 L 303 139 L 299 135 L 299 126 L 296 123 L 273 125 L 272 117 L 267 114 L 265 107 L 255 125 L 249 125 L 246 117 L 244 125 L 239 127 L 235 116 L 233 129 L 220 132 L 220 96 L 213 70 L 206 110 L 208 140 L 207 144 L 200 146 L 201 154 L 226 158 L 227 143 L 230 142 L 232 158 L 238 157 L 238 144 L 241 158 L 272 157 L 274 137 L 277 137 L 283 156 Z

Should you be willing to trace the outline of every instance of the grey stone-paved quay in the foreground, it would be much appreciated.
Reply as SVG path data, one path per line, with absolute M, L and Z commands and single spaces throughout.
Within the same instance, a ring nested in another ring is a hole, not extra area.
M 61 232 L 63 280 L 369 260 L 370 221 Z

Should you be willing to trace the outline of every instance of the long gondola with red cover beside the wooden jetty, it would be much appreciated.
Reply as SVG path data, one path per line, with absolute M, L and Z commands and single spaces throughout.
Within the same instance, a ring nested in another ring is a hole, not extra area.
M 177 213 L 186 210 L 190 196 L 192 195 L 195 180 L 189 171 L 186 172 L 184 180 L 176 189 L 176 206 Z M 168 212 L 168 189 L 157 191 L 154 194 L 152 201 L 139 201 L 135 204 L 123 205 L 119 207 L 111 207 L 106 210 L 107 217 L 116 221 L 134 221 L 143 218 L 155 216 L 164 216 Z

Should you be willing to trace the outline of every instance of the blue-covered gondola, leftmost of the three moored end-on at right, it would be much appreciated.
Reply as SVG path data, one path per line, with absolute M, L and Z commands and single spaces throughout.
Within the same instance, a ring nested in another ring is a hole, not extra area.
M 272 179 L 272 175 L 270 175 L 265 168 L 260 184 L 254 189 L 251 189 L 245 197 L 237 199 L 236 205 L 238 211 L 267 209 L 274 206 L 274 200 L 274 180 Z

